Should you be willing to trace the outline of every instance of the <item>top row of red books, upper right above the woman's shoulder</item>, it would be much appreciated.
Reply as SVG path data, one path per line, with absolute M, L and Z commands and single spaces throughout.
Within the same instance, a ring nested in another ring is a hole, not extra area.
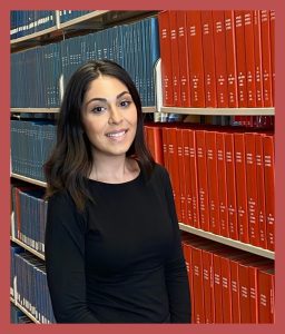
M 274 10 L 170 10 L 158 22 L 164 106 L 274 106 Z

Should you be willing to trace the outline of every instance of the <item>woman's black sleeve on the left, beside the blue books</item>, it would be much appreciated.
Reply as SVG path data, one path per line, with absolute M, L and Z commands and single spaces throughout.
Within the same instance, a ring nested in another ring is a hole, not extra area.
M 47 279 L 58 323 L 98 323 L 86 302 L 85 226 L 71 199 L 48 203 L 45 255 Z

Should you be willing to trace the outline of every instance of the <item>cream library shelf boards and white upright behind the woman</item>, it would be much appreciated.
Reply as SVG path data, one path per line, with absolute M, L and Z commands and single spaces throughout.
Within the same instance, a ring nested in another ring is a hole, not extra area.
M 138 19 L 144 19 L 147 17 L 157 16 L 158 11 L 109 11 L 109 10 L 98 10 L 92 11 L 81 17 L 68 20 L 66 22 L 60 22 L 60 12 L 56 11 L 56 24 L 49 29 L 32 33 L 30 36 L 24 36 L 16 40 L 11 40 L 11 51 L 18 52 L 20 50 L 29 49 L 39 45 L 48 45 L 50 42 L 59 42 L 62 38 L 72 38 L 77 36 L 83 36 L 91 31 L 100 31 L 101 29 L 108 27 L 115 27 L 120 23 L 135 22 Z M 156 90 L 156 104 L 155 106 L 142 107 L 142 112 L 145 114 L 177 114 L 177 115 L 197 115 L 197 116 L 275 116 L 274 107 L 258 107 L 258 108 L 198 108 L 198 107 L 166 107 L 163 106 L 163 76 L 161 76 L 161 59 L 158 59 L 155 66 L 155 87 Z M 10 109 L 11 115 L 13 114 L 47 114 L 57 116 L 59 108 L 19 108 L 12 107 Z M 46 187 L 46 183 L 37 180 L 31 177 L 22 176 L 20 174 L 11 173 L 11 178 L 22 180 L 27 184 L 32 184 L 39 187 Z M 224 237 L 210 232 L 205 232 L 200 228 L 196 228 L 189 225 L 179 223 L 179 228 L 183 232 L 189 233 L 190 235 L 196 235 L 208 240 L 213 240 L 223 245 L 234 247 L 247 252 L 249 254 L 258 255 L 265 259 L 275 259 L 274 250 L 268 250 L 262 247 L 256 247 L 250 244 L 246 244 L 239 240 L 235 240 L 228 237 Z M 45 261 L 45 256 L 37 250 L 32 249 L 21 240 L 11 237 L 11 242 L 23 247 L 31 254 L 36 255 L 40 259 Z M 12 301 L 12 299 L 11 299 Z M 13 302 L 14 303 L 14 302 Z M 17 303 L 16 303 L 17 305 Z M 23 307 L 17 305 L 20 310 Z M 27 314 L 27 310 L 22 310 Z M 27 314 L 32 321 L 39 323 L 31 315 Z

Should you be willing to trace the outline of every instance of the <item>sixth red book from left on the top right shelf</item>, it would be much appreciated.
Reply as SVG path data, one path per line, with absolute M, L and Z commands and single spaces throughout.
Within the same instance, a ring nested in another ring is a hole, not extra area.
M 213 10 L 213 24 L 215 42 L 217 102 L 219 108 L 226 108 L 228 107 L 228 90 L 225 14 L 223 10 Z

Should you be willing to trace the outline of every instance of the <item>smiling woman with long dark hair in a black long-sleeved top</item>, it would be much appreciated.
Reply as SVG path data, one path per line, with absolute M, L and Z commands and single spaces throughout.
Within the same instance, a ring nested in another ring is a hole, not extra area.
M 141 102 L 109 60 L 71 77 L 48 183 L 46 265 L 58 323 L 189 323 L 171 186 L 144 141 Z

